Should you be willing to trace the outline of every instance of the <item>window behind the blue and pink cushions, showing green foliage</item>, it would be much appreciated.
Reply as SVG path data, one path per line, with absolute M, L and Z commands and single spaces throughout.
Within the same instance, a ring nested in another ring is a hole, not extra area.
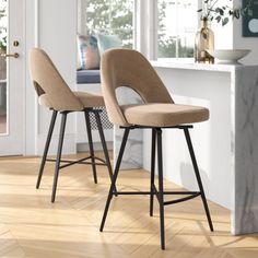
M 86 0 L 87 34 L 117 35 L 126 48 L 133 47 L 134 0 Z

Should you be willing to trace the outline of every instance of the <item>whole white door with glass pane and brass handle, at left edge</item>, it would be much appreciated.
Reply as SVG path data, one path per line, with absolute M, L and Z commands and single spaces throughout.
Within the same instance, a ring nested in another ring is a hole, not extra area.
M 0 156 L 24 149 L 25 0 L 0 0 Z

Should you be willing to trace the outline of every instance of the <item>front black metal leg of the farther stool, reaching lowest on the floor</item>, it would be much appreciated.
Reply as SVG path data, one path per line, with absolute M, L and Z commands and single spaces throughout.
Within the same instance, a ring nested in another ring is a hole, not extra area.
M 59 133 L 55 176 L 54 176 L 54 183 L 52 183 L 51 202 L 55 202 L 55 199 L 56 199 L 57 181 L 58 181 L 58 175 L 59 175 L 59 168 L 60 168 L 60 160 L 61 160 L 61 155 L 62 155 L 63 136 L 64 136 L 66 124 L 67 124 L 67 114 L 68 113 L 64 113 L 64 112 L 61 113 L 62 119 L 61 119 L 60 133 Z

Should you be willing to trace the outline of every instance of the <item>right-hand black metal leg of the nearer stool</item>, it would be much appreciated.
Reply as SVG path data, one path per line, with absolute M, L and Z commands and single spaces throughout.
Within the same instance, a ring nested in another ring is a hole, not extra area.
M 206 215 L 207 215 L 207 219 L 208 219 L 208 222 L 209 222 L 210 231 L 214 231 L 188 128 L 184 128 L 184 132 L 185 132 L 186 141 L 187 141 L 187 145 L 188 145 L 188 149 L 189 149 L 189 153 L 190 153 L 190 156 L 191 156 L 192 166 L 195 168 L 195 174 L 196 174 L 196 178 L 197 178 L 197 181 L 198 181 L 198 186 L 199 186 L 199 189 L 200 189 L 200 192 L 201 192 L 201 199 L 202 199 L 202 203 L 203 203 L 203 207 L 204 207 L 204 210 L 206 210 Z

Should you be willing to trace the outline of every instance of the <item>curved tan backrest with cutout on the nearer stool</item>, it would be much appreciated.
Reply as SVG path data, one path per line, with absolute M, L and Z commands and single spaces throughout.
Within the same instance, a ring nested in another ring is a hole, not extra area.
M 116 89 L 136 91 L 144 103 L 174 103 L 163 82 L 142 54 L 130 49 L 104 52 L 101 64 L 102 91 L 113 124 L 128 126 L 116 97 Z

